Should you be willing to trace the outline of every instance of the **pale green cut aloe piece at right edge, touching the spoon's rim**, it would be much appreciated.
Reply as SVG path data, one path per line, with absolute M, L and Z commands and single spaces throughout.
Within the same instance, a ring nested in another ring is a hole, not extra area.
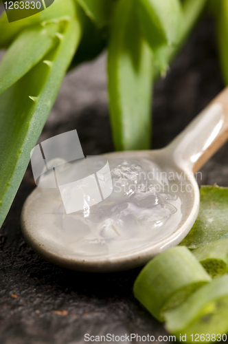
M 228 188 L 202 186 L 201 204 L 196 222 L 180 245 L 197 248 L 209 242 L 228 239 Z

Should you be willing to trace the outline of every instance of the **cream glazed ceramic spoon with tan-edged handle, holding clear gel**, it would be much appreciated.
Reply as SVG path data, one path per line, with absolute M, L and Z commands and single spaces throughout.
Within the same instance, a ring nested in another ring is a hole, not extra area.
M 41 195 L 36 188 L 27 198 L 21 215 L 23 235 L 41 257 L 59 266 L 89 272 L 126 270 L 146 264 L 152 257 L 181 242 L 192 228 L 199 208 L 199 190 L 194 173 L 228 139 L 228 88 L 219 94 L 187 128 L 164 149 L 155 151 L 123 151 L 104 156 L 115 158 L 146 158 L 156 162 L 163 171 L 174 171 L 178 182 L 187 186 L 181 197 L 181 217 L 159 239 L 148 241 L 137 250 L 113 255 L 78 255 L 67 245 L 56 229 L 53 209 L 60 201 L 58 189 Z M 46 193 L 45 193 L 46 192 Z M 103 201 L 104 202 L 104 201 Z

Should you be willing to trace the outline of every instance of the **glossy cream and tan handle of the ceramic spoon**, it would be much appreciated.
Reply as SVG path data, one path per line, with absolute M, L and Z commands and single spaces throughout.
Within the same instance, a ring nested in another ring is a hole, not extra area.
M 228 87 L 168 146 L 177 165 L 193 172 L 228 140 Z

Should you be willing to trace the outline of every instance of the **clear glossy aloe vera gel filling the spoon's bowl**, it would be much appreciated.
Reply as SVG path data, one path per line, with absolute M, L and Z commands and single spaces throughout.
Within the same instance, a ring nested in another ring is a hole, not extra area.
M 66 213 L 56 190 L 38 188 L 40 200 L 52 195 L 52 235 L 77 255 L 137 250 L 159 241 L 181 221 L 179 193 L 157 164 L 145 158 L 113 159 L 109 168 L 111 195 L 93 206 L 84 195 L 84 208 L 75 213 Z

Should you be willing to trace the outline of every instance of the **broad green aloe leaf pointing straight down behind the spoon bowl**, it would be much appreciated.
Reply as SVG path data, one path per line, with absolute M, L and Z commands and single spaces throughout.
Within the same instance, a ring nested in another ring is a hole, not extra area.
M 117 2 L 109 39 L 109 109 L 119 151 L 150 147 L 152 55 L 135 16 L 134 1 Z

